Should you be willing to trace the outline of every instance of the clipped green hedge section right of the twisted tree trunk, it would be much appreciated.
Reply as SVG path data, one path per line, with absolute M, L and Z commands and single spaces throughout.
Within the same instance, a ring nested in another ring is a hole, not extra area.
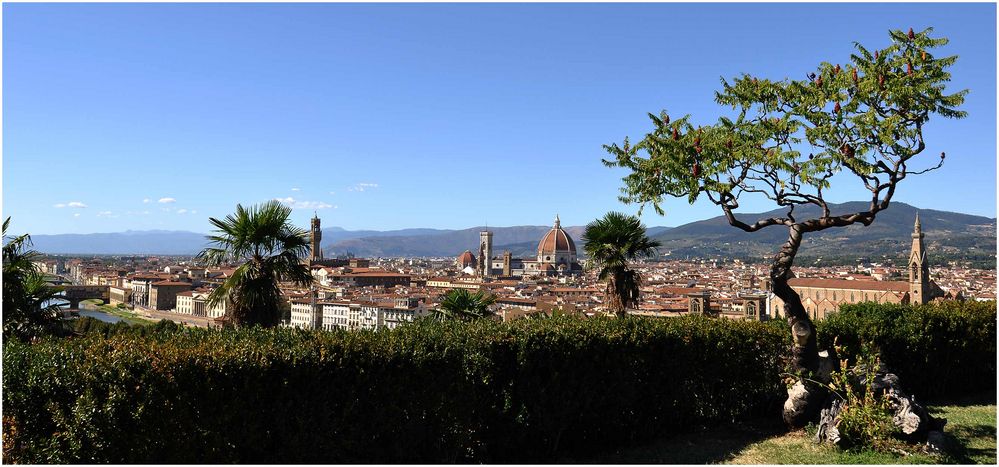
M 995 301 L 844 305 L 816 327 L 819 348 L 831 348 L 839 336 L 840 358 L 851 364 L 862 346 L 872 345 L 910 394 L 941 398 L 996 390 Z

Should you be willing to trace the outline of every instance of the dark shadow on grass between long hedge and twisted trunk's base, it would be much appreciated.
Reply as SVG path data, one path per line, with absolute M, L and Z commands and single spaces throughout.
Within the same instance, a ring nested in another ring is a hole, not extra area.
M 787 433 L 779 420 L 722 424 L 631 446 L 588 459 L 560 459 L 572 464 L 717 464 L 747 446 Z

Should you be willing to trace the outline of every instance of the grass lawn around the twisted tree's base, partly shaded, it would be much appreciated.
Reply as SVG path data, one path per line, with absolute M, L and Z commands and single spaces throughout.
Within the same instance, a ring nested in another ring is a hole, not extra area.
M 805 430 L 783 432 L 774 421 L 726 425 L 624 449 L 590 462 L 666 464 L 995 464 L 995 396 L 977 401 L 932 405 L 930 412 L 947 419 L 947 451 L 885 453 L 841 451 L 818 445 Z

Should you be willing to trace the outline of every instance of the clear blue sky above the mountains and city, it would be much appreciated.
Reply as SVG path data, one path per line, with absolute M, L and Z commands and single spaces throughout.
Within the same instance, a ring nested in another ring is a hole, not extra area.
M 932 26 L 957 54 L 947 164 L 895 200 L 996 216 L 994 4 L 4 4 L 3 215 L 33 234 L 207 232 L 284 199 L 307 226 L 583 225 L 617 201 L 603 144 L 720 77 L 801 79 Z M 829 198 L 864 199 L 843 178 Z M 846 186 L 848 185 L 848 186 Z M 79 203 L 79 204 L 73 204 Z M 85 206 L 85 207 L 82 207 Z M 744 203 L 746 212 L 763 202 Z M 720 214 L 669 201 L 648 225 Z

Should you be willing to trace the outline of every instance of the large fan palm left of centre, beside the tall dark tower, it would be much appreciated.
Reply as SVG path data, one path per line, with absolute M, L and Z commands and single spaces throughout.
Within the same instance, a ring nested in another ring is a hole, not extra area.
M 208 296 L 207 305 L 226 304 L 225 318 L 236 326 L 276 326 L 281 320 L 281 280 L 299 287 L 312 284 L 302 258 L 309 253 L 309 232 L 288 220 L 291 208 L 278 201 L 244 208 L 225 220 L 209 218 L 217 230 L 209 235 L 214 246 L 198 259 L 206 266 L 241 263 Z

